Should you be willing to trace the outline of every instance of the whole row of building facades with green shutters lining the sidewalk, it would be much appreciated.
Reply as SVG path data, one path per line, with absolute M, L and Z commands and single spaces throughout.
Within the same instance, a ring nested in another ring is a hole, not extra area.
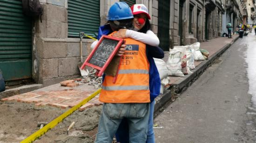
M 164 51 L 220 37 L 230 20 L 236 26 L 244 17 L 238 0 L 40 0 L 40 22 L 22 14 L 21 0 L 0 0 L 0 69 L 7 83 L 29 78 L 46 86 L 78 77 L 79 32 L 96 37 L 118 1 L 148 7 Z M 93 41 L 82 39 L 83 59 Z

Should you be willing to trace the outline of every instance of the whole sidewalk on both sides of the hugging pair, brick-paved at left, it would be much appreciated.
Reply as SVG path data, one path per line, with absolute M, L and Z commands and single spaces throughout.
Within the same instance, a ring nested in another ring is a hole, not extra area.
M 202 62 L 195 61 L 196 67 L 194 70 L 192 70 L 192 74 L 185 75 L 185 77 L 170 77 L 170 88 L 168 88 L 168 90 L 164 90 L 164 93 L 155 99 L 155 111 L 160 110 L 164 104 L 170 101 L 171 95 L 176 96 L 177 94 L 186 90 L 186 88 L 190 86 L 217 57 L 219 57 L 227 48 L 229 48 L 229 46 L 232 45 L 236 39 L 238 39 L 238 35 L 233 35 L 233 39 L 221 37 L 212 39 L 209 42 L 201 43 L 200 48 L 209 51 L 209 59 Z M 163 60 L 167 61 L 168 52 L 165 54 L 166 55 Z M 60 84 L 54 84 L 39 90 L 26 92 L 13 97 L 3 98 L 1 101 L 29 103 L 34 104 L 35 106 L 47 105 L 67 109 L 78 104 L 96 90 L 97 89 L 94 89 L 93 86 L 85 84 L 81 84 L 76 87 L 63 87 Z M 79 110 L 82 111 L 92 106 L 99 105 L 101 105 L 101 103 L 98 101 L 98 97 L 94 97 Z

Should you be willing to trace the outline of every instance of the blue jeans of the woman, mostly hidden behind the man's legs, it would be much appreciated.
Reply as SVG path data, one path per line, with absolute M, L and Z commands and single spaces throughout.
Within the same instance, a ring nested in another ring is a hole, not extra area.
M 150 106 L 150 112 L 149 112 L 149 119 L 148 119 L 148 134 L 147 134 L 146 143 L 155 143 L 155 134 L 153 130 L 155 100 L 151 102 L 149 106 Z M 128 133 L 129 128 L 127 124 L 128 124 L 127 120 L 123 119 L 115 134 L 117 142 L 129 143 L 129 133 Z

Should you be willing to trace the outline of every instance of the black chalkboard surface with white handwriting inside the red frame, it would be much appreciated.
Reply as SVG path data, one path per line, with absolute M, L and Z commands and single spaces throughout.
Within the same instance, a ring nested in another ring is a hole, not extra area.
M 119 41 L 113 39 L 103 39 L 88 63 L 102 67 L 114 51 L 118 42 Z

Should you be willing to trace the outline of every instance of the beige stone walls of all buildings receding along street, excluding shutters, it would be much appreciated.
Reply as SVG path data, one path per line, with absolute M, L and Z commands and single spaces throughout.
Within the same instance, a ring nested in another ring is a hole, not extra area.
M 101 0 L 100 20 L 105 24 L 108 9 L 119 0 Z M 222 15 L 217 7 L 211 8 L 208 20 L 208 29 L 205 29 L 206 9 L 205 1 L 215 0 L 185 0 L 183 4 L 182 31 L 179 36 L 179 1 L 170 0 L 169 34 L 170 48 L 176 45 L 190 45 L 196 41 L 205 40 L 205 32 L 209 39 L 217 38 L 223 31 Z M 40 0 L 43 4 L 44 14 L 42 23 L 39 20 L 33 24 L 33 78 L 37 83 L 49 85 L 65 79 L 80 76 L 77 67 L 80 61 L 79 38 L 68 38 L 67 0 Z M 158 33 L 158 0 L 136 0 L 148 7 L 151 16 L 152 31 Z M 189 33 L 189 6 L 193 6 L 191 28 Z M 209 5 L 208 5 L 209 6 Z M 219 15 L 219 21 L 218 21 Z M 198 18 L 197 18 L 198 16 Z M 197 23 L 198 21 L 198 23 Z M 218 26 L 219 29 L 218 29 Z M 206 31 L 205 31 L 206 30 Z M 90 45 L 93 39 L 82 39 L 83 58 L 91 52 Z

